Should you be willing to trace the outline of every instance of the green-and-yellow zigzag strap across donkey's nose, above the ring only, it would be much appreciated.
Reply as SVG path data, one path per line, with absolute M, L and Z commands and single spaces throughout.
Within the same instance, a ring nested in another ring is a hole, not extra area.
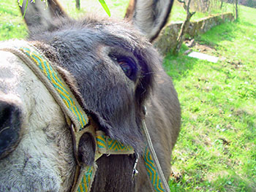
M 56 69 L 50 64 L 50 61 L 42 56 L 33 46 L 26 45 L 24 47 L 18 47 L 18 50 L 25 53 L 29 58 L 30 61 L 26 59 L 26 65 L 45 84 L 66 117 L 70 118 L 72 123 L 75 124 L 76 131 L 82 130 L 89 122 L 88 116 L 80 107 L 80 104 L 78 104 L 78 101 L 69 90 L 65 81 L 62 80 Z

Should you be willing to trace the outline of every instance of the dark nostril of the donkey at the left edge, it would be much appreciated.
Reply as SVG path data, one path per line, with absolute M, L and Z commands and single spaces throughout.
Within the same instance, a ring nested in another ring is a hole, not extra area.
M 20 137 L 20 110 L 14 104 L 0 101 L 0 158 L 18 145 Z

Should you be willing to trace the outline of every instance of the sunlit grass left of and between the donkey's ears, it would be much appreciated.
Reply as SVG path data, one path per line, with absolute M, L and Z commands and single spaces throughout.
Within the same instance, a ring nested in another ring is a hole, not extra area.
M 24 0 L 26 1 L 26 0 Z M 127 0 L 105 0 L 110 8 L 111 17 L 124 18 Z M 61 5 L 73 18 L 81 18 L 86 13 L 108 16 L 97 0 L 80 0 L 80 10 L 75 9 L 75 0 L 59 0 Z M 18 3 L 15 0 L 1 1 L 0 5 L 0 41 L 6 39 L 23 39 L 27 36 L 26 25 L 22 19 Z

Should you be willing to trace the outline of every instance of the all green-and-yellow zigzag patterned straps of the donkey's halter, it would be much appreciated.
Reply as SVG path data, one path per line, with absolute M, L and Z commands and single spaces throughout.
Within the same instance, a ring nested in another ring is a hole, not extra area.
M 51 66 L 50 61 L 47 58 L 42 56 L 39 51 L 24 42 L 25 46 L 22 47 L 7 47 L 2 50 L 7 50 L 15 55 L 18 55 L 27 66 L 34 72 L 34 74 L 39 77 L 48 91 L 52 94 L 53 98 L 56 99 L 57 103 L 61 107 L 61 110 L 64 111 L 66 118 L 70 118 L 72 123 L 75 124 L 75 128 L 77 131 L 81 131 L 86 124 L 89 122 L 89 118 L 86 113 L 83 111 L 78 101 L 76 101 L 75 96 L 73 96 L 72 92 L 69 90 L 68 86 L 59 77 L 59 74 L 56 72 L 56 69 Z M 145 122 L 143 122 L 145 124 Z M 146 125 L 145 125 L 146 126 Z M 144 131 L 145 128 L 143 127 Z M 154 149 L 151 150 L 151 139 L 147 135 L 148 147 L 146 147 L 146 151 L 144 153 L 144 161 L 146 165 L 146 169 L 148 175 L 150 177 L 151 183 L 154 186 L 154 190 L 157 192 L 165 191 L 162 186 L 162 181 L 159 178 L 158 172 L 160 171 L 160 175 L 162 175 L 162 169 L 159 167 L 159 162 L 156 161 L 156 157 L 152 158 L 151 152 L 154 156 Z M 105 133 L 102 131 L 96 131 L 96 141 L 97 141 L 97 158 L 100 157 L 100 154 L 133 154 L 134 150 L 130 146 L 123 145 L 121 142 L 118 142 L 114 139 L 110 139 L 110 137 L 105 136 Z M 150 152 L 151 151 L 151 152 Z M 97 159 L 95 159 L 96 161 Z M 157 167 L 155 164 L 157 163 Z M 159 170 L 160 169 L 160 170 Z M 75 191 L 78 192 L 89 192 L 91 188 L 91 184 L 94 180 L 94 175 L 96 172 L 96 165 L 81 167 L 80 174 L 78 178 L 78 183 L 75 186 Z M 161 178 L 165 178 L 162 176 Z M 166 181 L 165 181 L 166 182 Z M 165 185 L 166 186 L 166 185 Z M 166 187 L 165 187 L 166 188 Z M 168 188 L 166 190 L 170 191 Z

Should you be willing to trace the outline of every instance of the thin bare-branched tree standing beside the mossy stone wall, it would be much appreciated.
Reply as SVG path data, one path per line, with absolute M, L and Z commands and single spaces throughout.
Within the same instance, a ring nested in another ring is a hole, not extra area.
M 195 12 L 190 12 L 190 11 L 189 11 L 189 6 L 190 6 L 191 0 L 189 0 L 187 4 L 186 4 L 185 1 L 181 1 L 181 0 L 178 0 L 178 2 L 180 2 L 181 4 L 183 4 L 183 8 L 184 8 L 185 11 L 187 12 L 187 18 L 186 18 L 186 20 L 184 21 L 184 23 L 182 23 L 181 31 L 180 31 L 179 34 L 178 34 L 178 38 L 177 38 L 177 41 L 176 41 L 176 45 L 174 46 L 174 49 L 173 49 L 173 55 L 178 55 L 179 50 L 181 50 L 181 45 L 182 45 L 182 42 L 184 41 L 184 34 L 185 34 L 186 31 L 187 31 L 187 28 L 188 28 L 189 23 L 190 23 L 190 19 L 191 19 L 192 16 L 195 14 Z

